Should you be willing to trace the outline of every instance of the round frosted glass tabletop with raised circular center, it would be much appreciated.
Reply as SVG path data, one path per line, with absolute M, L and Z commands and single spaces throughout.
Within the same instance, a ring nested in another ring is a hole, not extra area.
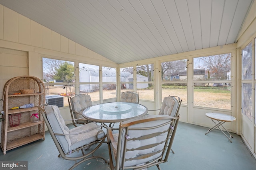
M 88 107 L 82 115 L 91 121 L 111 123 L 142 117 L 147 113 L 148 109 L 141 104 L 111 102 Z

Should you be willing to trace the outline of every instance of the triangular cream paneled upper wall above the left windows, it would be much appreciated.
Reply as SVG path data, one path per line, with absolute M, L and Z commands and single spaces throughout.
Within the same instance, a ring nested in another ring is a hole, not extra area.
M 22 46 L 29 45 L 31 47 L 39 47 L 61 53 L 89 57 L 90 59 L 94 59 L 94 63 L 98 64 L 101 63 L 100 61 L 104 61 L 104 64 L 111 63 L 112 66 L 115 64 L 98 53 L 95 53 L 59 33 L 48 29 L 44 25 L 40 25 L 2 5 L 0 5 L 0 40 L 19 44 L 18 49 L 6 44 L 6 48 L 10 49 L 30 51 L 31 48 L 27 49 L 27 46 Z M 40 50 L 40 53 L 42 53 L 42 49 Z M 32 51 L 36 52 L 34 48 L 32 48 Z M 48 53 L 49 51 L 47 51 L 47 54 Z M 55 53 L 53 53 L 53 55 L 54 54 Z M 70 58 L 74 57 L 70 56 Z

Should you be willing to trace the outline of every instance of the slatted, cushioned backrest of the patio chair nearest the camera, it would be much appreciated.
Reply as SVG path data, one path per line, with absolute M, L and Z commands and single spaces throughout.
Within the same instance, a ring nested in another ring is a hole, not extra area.
M 135 123 L 120 123 L 116 166 L 122 169 L 145 162 L 161 163 L 173 131 L 170 128 L 173 118 L 166 115 L 146 115 L 134 119 Z

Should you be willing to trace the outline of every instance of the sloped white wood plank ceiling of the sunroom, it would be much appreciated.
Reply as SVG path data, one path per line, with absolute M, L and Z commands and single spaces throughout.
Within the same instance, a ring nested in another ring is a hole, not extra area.
M 0 0 L 115 63 L 235 43 L 253 0 Z

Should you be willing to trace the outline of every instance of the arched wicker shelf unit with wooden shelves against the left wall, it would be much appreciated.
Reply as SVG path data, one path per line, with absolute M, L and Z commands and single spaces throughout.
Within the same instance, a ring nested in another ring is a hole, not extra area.
M 24 89 L 34 89 L 34 91 L 31 94 L 20 94 L 20 90 Z M 6 82 L 3 92 L 5 113 L 1 140 L 3 153 L 6 154 L 8 150 L 39 139 L 44 140 L 44 119 L 37 108 L 38 105 L 45 104 L 45 87 L 42 80 L 34 76 L 14 77 Z M 11 109 L 24 104 L 34 104 L 34 107 Z M 33 122 L 35 117 L 33 114 L 38 115 L 37 122 Z

